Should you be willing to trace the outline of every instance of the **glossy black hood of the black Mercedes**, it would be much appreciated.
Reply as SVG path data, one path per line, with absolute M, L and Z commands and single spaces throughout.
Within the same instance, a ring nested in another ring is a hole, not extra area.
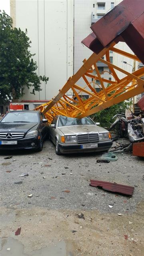
M 28 132 L 38 127 L 38 123 L 0 123 L 0 132 Z

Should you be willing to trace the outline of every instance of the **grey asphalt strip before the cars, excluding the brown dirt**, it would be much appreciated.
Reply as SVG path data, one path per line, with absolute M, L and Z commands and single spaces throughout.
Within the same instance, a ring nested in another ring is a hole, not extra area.
M 144 159 L 131 153 L 119 153 L 115 162 L 96 163 L 101 154 L 57 156 L 55 146 L 49 140 L 44 143 L 42 152 L 1 152 L 1 206 L 134 212 L 144 197 Z M 4 159 L 6 156 L 12 158 Z M 22 173 L 29 175 L 18 177 Z M 94 188 L 89 185 L 90 179 L 134 186 L 134 194 L 130 197 Z M 20 181 L 21 184 L 14 183 Z M 29 198 L 30 194 L 32 197 Z M 108 206 L 110 204 L 112 208 Z

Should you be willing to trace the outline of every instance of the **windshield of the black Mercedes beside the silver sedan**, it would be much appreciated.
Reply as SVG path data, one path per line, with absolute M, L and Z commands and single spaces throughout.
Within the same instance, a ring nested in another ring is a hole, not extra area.
M 38 114 L 33 112 L 10 112 L 1 121 L 2 123 L 38 123 Z

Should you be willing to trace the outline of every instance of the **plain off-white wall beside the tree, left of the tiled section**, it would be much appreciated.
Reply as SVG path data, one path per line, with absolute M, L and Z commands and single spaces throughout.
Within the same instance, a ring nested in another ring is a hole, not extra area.
M 30 51 L 36 53 L 38 75 L 49 77 L 42 91 L 30 94 L 25 89 L 22 100 L 49 100 L 73 75 L 73 0 L 11 0 L 14 24 L 27 28 L 32 41 Z

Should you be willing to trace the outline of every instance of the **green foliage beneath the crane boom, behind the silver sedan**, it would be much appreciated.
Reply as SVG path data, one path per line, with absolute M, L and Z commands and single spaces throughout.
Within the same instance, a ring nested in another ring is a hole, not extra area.
M 94 120 L 94 122 L 100 122 L 101 126 L 109 128 L 110 125 L 114 122 L 112 117 L 116 114 L 125 114 L 126 108 L 129 108 L 130 105 L 131 102 L 123 101 L 111 106 L 110 108 L 101 110 L 100 112 L 95 113 L 90 117 Z

